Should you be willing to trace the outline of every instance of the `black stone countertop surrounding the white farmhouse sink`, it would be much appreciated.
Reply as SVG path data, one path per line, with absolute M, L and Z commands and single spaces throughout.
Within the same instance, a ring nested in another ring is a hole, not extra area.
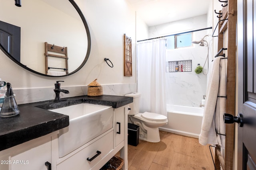
M 77 96 L 18 105 L 20 114 L 14 117 L 0 117 L 0 151 L 47 135 L 69 125 L 68 115 L 48 111 L 80 103 L 122 107 L 133 102 L 132 97 L 103 95 L 97 97 Z

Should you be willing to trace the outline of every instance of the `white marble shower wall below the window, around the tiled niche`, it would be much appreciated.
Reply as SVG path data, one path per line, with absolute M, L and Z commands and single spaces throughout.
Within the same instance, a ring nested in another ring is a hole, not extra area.
M 167 104 L 199 107 L 203 95 L 206 94 L 207 76 L 202 73 L 196 74 L 194 70 L 198 64 L 204 65 L 206 54 L 206 47 L 198 46 L 166 52 L 166 63 L 168 61 L 192 60 L 192 72 L 166 73 Z M 211 58 L 209 60 L 211 62 Z

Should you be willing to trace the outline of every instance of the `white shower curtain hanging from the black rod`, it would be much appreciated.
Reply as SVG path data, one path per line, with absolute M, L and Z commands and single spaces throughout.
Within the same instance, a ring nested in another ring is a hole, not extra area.
M 138 92 L 140 112 L 167 115 L 166 111 L 166 39 L 137 44 Z

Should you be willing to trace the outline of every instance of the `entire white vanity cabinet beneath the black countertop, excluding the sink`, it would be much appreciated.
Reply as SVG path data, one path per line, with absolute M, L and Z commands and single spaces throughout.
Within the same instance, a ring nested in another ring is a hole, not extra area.
M 66 156 L 59 156 L 59 131 L 55 131 L 0 151 L 0 170 L 48 170 L 46 162 L 51 170 L 99 170 L 117 152 L 124 160 L 122 169 L 128 170 L 127 125 L 128 105 L 114 108 L 112 128 Z

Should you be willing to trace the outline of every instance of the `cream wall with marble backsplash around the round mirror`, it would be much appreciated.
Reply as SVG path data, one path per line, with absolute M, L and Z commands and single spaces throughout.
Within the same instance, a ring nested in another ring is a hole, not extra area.
M 104 94 L 124 95 L 136 91 L 135 10 L 125 0 L 75 2 L 88 22 L 92 39 L 90 57 L 75 74 L 57 78 L 40 76 L 21 68 L 0 51 L 0 78 L 12 84 L 18 104 L 54 99 L 56 80 L 65 81 L 61 88 L 70 91 L 70 94 L 61 94 L 62 98 L 87 94 L 86 85 L 96 78 L 103 85 Z M 144 28 L 137 31 L 138 35 L 140 31 L 145 34 Z M 123 76 L 124 33 L 132 38 L 132 77 Z M 109 58 L 114 67 L 110 68 L 104 58 Z

